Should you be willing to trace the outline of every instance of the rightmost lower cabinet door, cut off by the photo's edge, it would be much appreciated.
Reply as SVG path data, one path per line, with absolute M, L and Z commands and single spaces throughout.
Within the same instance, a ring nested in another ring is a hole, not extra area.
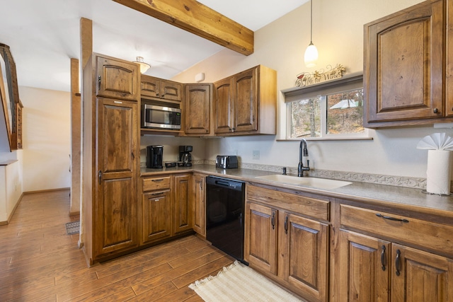
M 392 244 L 391 301 L 453 301 L 453 260 Z

